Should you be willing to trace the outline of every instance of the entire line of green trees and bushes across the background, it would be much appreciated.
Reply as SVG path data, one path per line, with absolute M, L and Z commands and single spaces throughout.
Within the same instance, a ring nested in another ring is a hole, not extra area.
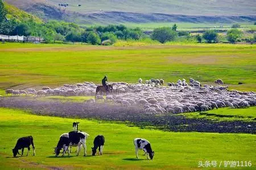
M 117 40 L 140 40 L 149 37 L 161 43 L 176 41 L 179 37 L 188 37 L 197 42 L 214 43 L 220 41 L 220 36 L 215 29 L 209 29 L 203 35 L 191 36 L 190 32 L 177 31 L 177 24 L 172 27 L 155 28 L 151 35 L 146 35 L 140 28 L 127 28 L 125 25 L 107 25 L 97 27 L 83 27 L 75 23 L 67 23 L 57 20 L 36 23 L 33 19 L 23 22 L 15 18 L 7 19 L 7 11 L 0 1 L 0 34 L 37 36 L 43 37 L 47 42 L 71 41 L 86 42 L 93 45 L 112 45 Z M 242 31 L 237 29 L 240 24 L 233 24 L 232 29 L 227 32 L 226 39 L 234 44 L 242 38 Z M 255 35 L 254 35 L 255 41 Z

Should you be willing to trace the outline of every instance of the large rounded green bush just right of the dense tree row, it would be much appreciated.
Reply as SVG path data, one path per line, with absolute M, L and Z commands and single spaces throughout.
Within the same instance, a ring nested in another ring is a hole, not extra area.
M 158 40 L 161 43 L 164 43 L 167 41 L 174 41 L 176 37 L 177 37 L 177 32 L 172 30 L 169 27 L 156 28 L 154 29 L 151 35 L 152 40 Z

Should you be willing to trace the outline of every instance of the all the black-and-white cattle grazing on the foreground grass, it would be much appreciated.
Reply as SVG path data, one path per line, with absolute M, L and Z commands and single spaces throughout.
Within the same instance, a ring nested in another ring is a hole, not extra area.
M 68 152 L 68 156 L 71 154 L 71 148 L 76 146 L 76 155 L 79 156 L 80 151 L 82 147 L 84 148 L 84 156 L 86 156 L 86 139 L 89 137 L 89 134 L 85 133 L 84 131 L 78 130 L 78 124 L 79 122 L 73 122 L 73 131 L 69 131 L 69 133 L 64 133 L 60 135 L 59 142 L 57 143 L 57 146 L 54 148 L 55 156 L 59 156 L 60 151 L 63 150 L 62 156 L 64 156 L 65 152 Z M 98 154 L 103 154 L 103 147 L 105 143 L 105 138 L 103 135 L 97 135 L 97 137 L 94 138 L 93 141 L 93 147 L 92 147 L 92 155 L 95 156 L 98 148 Z M 23 156 L 24 148 L 27 148 L 28 152 L 30 151 L 30 146 L 32 146 L 32 149 L 34 151 L 35 156 L 35 146 L 34 146 L 34 139 L 32 136 L 28 137 L 22 137 L 19 138 L 16 142 L 15 147 L 13 148 L 13 156 L 16 157 L 17 154 L 19 154 L 19 150 L 22 150 L 21 156 Z M 150 142 L 148 142 L 146 139 L 141 138 L 135 138 L 134 139 L 134 146 L 135 146 L 135 152 L 136 156 L 138 157 L 138 150 L 143 150 L 144 155 L 147 156 L 147 159 L 153 159 L 154 157 L 154 151 L 152 151 Z M 28 156 L 27 152 L 27 156 Z M 19 154 L 20 155 L 20 154 Z

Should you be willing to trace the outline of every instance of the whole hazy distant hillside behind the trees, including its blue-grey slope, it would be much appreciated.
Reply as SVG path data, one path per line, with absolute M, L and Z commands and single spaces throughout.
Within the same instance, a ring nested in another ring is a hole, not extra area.
M 255 0 L 6 0 L 42 19 L 80 24 L 255 22 Z M 68 5 L 66 7 L 59 4 Z M 80 7 L 78 5 L 81 5 Z

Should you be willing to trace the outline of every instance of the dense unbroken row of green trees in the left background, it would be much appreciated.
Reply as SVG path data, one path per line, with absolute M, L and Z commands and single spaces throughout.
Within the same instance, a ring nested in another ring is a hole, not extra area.
M 93 45 L 113 44 L 117 39 L 139 40 L 143 36 L 140 28 L 127 28 L 124 25 L 108 25 L 106 27 L 81 27 L 74 23 L 50 20 L 47 23 L 36 23 L 33 19 L 7 19 L 7 11 L 0 1 L 0 34 L 44 37 L 46 41 L 86 42 Z

